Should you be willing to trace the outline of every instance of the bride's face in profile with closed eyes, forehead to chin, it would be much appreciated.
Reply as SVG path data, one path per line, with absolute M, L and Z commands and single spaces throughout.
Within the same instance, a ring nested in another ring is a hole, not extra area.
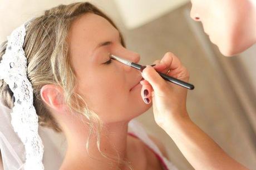
M 122 46 L 119 31 L 105 18 L 85 14 L 76 19 L 69 42 L 78 93 L 103 122 L 129 121 L 151 107 L 140 96 L 140 71 L 113 59 L 109 62 L 109 53 L 135 63 L 140 56 Z

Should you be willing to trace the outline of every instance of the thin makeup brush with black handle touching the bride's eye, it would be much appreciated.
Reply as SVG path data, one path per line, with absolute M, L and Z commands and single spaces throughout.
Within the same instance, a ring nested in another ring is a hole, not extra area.
M 142 71 L 142 69 L 145 68 L 145 66 L 141 66 L 140 64 L 136 64 L 136 63 L 127 61 L 126 59 L 123 59 L 123 58 L 118 57 L 118 56 L 114 56 L 113 54 L 109 54 L 109 55 L 110 55 L 110 58 L 116 59 L 117 61 L 119 61 L 121 63 L 124 63 L 127 66 L 130 66 L 132 68 L 139 69 L 140 71 Z M 171 83 L 177 84 L 177 85 L 179 85 L 181 87 L 185 87 L 185 88 L 188 88 L 188 89 L 194 89 L 194 85 L 193 84 L 181 81 L 180 79 L 176 79 L 174 77 L 168 76 L 168 75 L 166 75 L 164 73 L 161 73 L 161 72 L 157 72 L 157 73 L 159 73 L 160 76 L 163 77 L 166 81 L 169 81 Z

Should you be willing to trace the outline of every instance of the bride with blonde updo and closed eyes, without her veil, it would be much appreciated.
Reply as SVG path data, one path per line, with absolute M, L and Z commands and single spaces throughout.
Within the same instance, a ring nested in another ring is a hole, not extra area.
M 29 25 L 23 49 L 39 123 L 67 140 L 61 170 L 169 169 L 161 142 L 149 137 L 159 156 L 149 141 L 128 133 L 151 103 L 141 99 L 141 72 L 109 57 L 140 61 L 109 17 L 87 2 L 49 9 Z M 0 85 L 2 103 L 12 108 L 11 90 Z

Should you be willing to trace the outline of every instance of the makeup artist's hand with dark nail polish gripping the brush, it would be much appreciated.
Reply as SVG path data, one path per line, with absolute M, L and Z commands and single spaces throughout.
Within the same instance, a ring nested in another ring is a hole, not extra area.
M 161 61 L 154 62 L 154 67 L 147 66 L 142 71 L 141 96 L 149 103 L 152 101 L 153 112 L 156 123 L 164 128 L 166 124 L 179 123 L 183 119 L 188 119 L 186 111 L 187 89 L 174 83 L 165 81 L 156 71 L 166 73 L 169 69 L 169 76 L 189 81 L 189 72 L 181 64 L 178 57 L 173 53 L 166 53 Z M 144 97 L 144 94 L 146 96 Z M 146 101 L 145 101 L 146 103 Z

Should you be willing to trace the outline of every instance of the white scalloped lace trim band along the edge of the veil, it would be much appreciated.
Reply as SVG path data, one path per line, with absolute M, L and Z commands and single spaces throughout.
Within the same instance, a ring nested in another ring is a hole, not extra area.
M 12 109 L 12 126 L 26 149 L 24 169 L 44 169 L 43 144 L 38 134 L 38 116 L 33 106 L 33 88 L 27 78 L 27 58 L 23 51 L 26 28 L 30 22 L 14 29 L 8 36 L 6 53 L 0 63 L 0 78 L 12 90 L 15 102 Z

